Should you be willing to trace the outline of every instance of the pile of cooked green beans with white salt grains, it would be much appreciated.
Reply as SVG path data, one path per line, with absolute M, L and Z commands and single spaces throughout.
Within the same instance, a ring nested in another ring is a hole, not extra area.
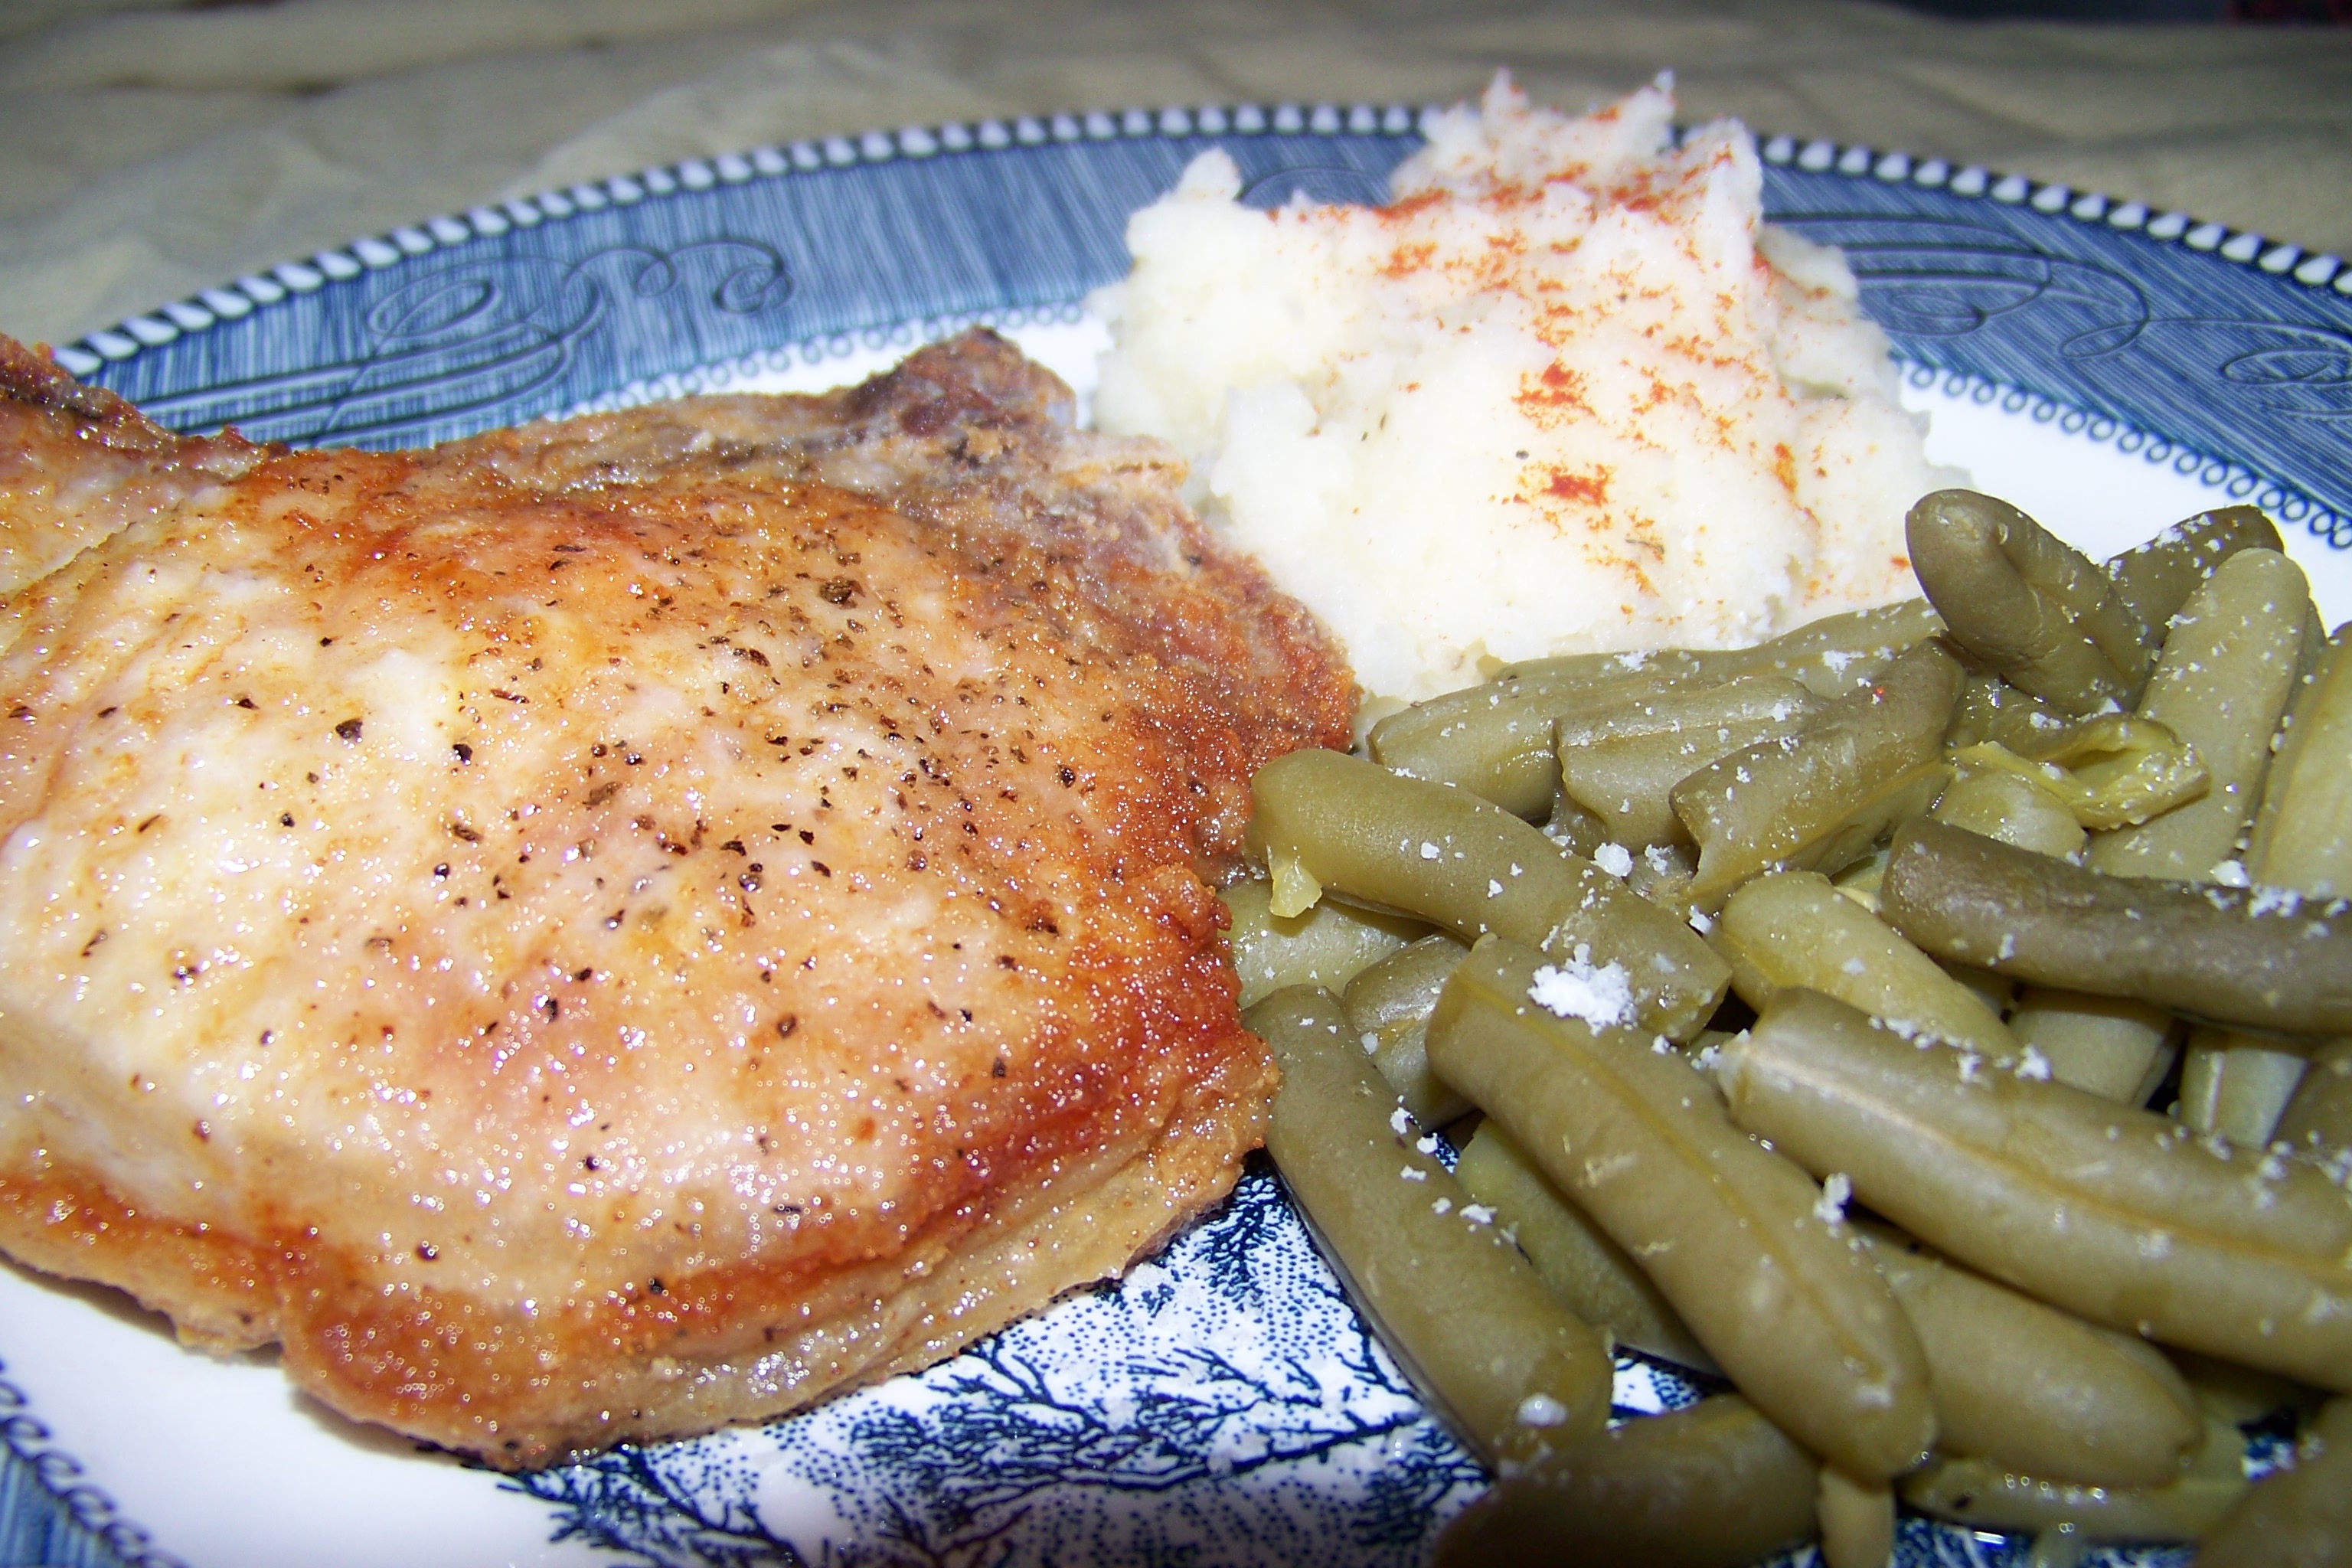
M 1251 783 L 1275 1164 L 1501 1476 L 1439 1561 L 2352 1561 L 2352 628 L 2253 508 L 1907 534 L 1924 599 Z M 1609 1345 L 1738 1392 L 1604 1429 Z

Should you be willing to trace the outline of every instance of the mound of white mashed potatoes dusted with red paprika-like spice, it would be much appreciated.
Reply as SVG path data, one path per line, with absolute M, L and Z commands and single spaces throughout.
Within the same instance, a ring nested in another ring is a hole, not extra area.
M 1425 698 L 1479 658 L 1733 646 L 1917 592 L 1903 512 L 1955 482 L 1896 404 L 1844 259 L 1764 223 L 1736 122 L 1668 82 L 1585 118 L 1496 80 L 1390 207 L 1242 207 L 1202 153 L 1138 212 L 1096 421 Z

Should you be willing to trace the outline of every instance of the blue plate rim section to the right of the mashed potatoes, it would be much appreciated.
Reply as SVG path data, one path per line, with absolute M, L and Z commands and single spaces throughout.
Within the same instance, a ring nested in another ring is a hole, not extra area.
M 1959 376 L 1971 395 L 1990 386 L 2013 411 L 2169 461 L 2352 550 L 2343 259 L 1980 165 L 1795 136 L 1759 153 L 1771 216 L 1846 249 L 1863 306 L 1915 371 Z M 1957 315 L 1987 320 L 1905 329 L 1891 306 L 1938 287 Z M 2018 299 L 1994 299 L 2004 287 Z

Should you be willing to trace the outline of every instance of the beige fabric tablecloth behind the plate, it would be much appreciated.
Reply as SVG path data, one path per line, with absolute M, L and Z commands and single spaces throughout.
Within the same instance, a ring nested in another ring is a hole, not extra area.
M 1058 108 L 1583 108 L 1985 162 L 2352 252 L 2352 31 L 1865 0 L 0 0 L 0 331 L 66 341 L 437 212 L 769 141 Z

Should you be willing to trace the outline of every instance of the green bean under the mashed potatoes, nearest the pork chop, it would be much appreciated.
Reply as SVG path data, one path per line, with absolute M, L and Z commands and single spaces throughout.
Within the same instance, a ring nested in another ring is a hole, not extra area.
M 1449 783 L 1524 818 L 1543 816 L 1559 783 L 1552 722 L 1635 691 L 1663 691 L 1703 672 L 1696 654 L 1578 654 L 1573 668 L 1505 675 L 1392 712 L 1367 745 L 1381 766 Z

